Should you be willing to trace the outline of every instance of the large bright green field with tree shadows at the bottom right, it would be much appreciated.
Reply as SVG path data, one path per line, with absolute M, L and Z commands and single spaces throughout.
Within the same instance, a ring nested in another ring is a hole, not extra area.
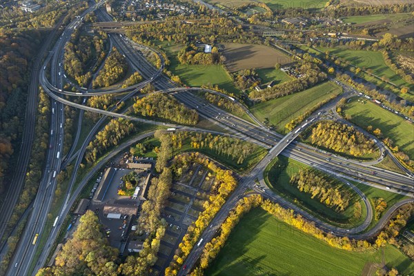
M 414 273 L 413 262 L 394 246 L 384 247 L 384 257 L 402 275 Z M 205 275 L 359 276 L 366 263 L 381 261 L 380 250 L 333 248 L 256 208 L 233 229 Z

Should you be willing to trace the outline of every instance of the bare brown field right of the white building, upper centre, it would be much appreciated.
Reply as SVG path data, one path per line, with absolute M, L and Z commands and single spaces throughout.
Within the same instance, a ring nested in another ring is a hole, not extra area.
M 276 63 L 290 63 L 290 57 L 270 46 L 224 43 L 226 66 L 230 72 L 251 68 L 273 68 Z

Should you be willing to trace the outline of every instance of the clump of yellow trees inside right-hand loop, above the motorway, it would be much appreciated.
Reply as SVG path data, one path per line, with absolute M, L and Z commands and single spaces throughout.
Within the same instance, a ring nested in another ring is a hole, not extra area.
M 375 142 L 362 132 L 335 121 L 320 121 L 313 126 L 309 137 L 313 145 L 346 152 L 355 157 L 369 155 L 377 149 Z

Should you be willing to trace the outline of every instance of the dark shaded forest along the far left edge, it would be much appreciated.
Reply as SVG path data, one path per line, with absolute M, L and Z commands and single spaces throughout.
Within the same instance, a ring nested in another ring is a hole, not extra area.
M 0 192 L 10 157 L 18 152 L 30 66 L 45 34 L 38 30 L 0 31 Z

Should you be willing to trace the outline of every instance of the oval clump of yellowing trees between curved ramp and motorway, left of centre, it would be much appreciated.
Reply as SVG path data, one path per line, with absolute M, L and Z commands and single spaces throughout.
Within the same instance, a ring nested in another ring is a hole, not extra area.
M 198 114 L 195 110 L 187 108 L 174 97 L 164 93 L 152 93 L 137 99 L 132 110 L 135 114 L 168 119 L 178 124 L 195 125 L 198 122 Z

